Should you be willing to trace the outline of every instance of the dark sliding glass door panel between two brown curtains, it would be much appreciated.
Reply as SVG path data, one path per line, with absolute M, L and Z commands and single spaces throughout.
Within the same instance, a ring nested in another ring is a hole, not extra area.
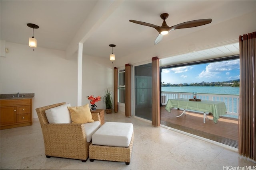
M 134 67 L 135 116 L 152 121 L 152 63 Z

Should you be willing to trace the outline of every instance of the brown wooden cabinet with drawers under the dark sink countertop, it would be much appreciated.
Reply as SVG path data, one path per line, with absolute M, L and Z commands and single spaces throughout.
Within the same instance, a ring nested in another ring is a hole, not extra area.
M 32 99 L 0 100 L 0 129 L 32 125 Z

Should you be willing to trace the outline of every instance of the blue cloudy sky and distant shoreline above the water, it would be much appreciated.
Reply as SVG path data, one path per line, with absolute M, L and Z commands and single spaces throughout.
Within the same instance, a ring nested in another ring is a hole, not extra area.
M 162 68 L 162 86 L 239 87 L 239 56 Z

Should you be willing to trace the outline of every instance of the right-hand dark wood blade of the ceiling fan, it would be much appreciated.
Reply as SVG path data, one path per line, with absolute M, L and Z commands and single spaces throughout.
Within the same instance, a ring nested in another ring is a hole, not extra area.
M 212 19 L 187 21 L 187 22 L 179 23 L 177 25 L 170 27 L 169 31 L 172 31 L 174 29 L 197 27 L 197 26 L 205 25 L 211 22 L 212 22 Z

